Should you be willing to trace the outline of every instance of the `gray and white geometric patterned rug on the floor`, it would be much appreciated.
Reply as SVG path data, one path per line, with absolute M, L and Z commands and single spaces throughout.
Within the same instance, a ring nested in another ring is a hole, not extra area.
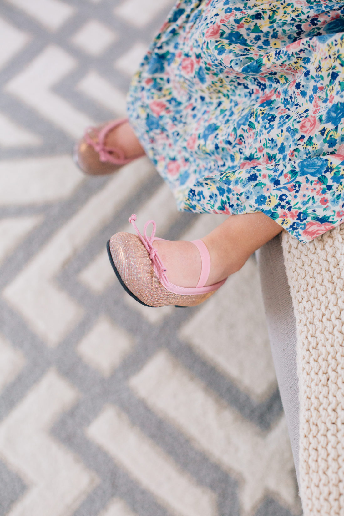
M 199 308 L 149 309 L 107 239 L 199 238 L 145 158 L 71 149 L 123 115 L 170 0 L 0 2 L 0 516 L 300 515 L 254 259 Z

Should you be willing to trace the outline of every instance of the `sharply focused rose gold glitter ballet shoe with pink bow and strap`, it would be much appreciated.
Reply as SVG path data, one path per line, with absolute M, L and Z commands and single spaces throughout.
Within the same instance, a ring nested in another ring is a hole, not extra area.
M 132 233 L 116 233 L 107 243 L 109 259 L 114 272 L 125 291 L 136 301 L 146 307 L 165 307 L 174 304 L 176 307 L 195 307 L 202 303 L 226 280 L 214 285 L 204 286 L 210 271 L 210 256 L 202 240 L 193 240 L 198 248 L 202 269 L 198 284 L 194 288 L 179 287 L 170 283 L 166 276 L 157 250 L 153 247 L 154 240 L 163 240 L 155 237 L 156 224 L 154 220 L 145 223 L 143 236 L 135 224 L 136 215 L 129 218 L 137 235 Z M 153 224 L 150 237 L 146 230 Z

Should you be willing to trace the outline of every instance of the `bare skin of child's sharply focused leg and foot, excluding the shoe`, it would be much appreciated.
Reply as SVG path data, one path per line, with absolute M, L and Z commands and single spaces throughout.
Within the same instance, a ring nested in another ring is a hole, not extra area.
M 208 248 L 211 269 L 206 285 L 212 285 L 239 270 L 254 251 L 279 234 L 282 228 L 264 213 L 228 217 L 202 240 Z M 171 283 L 195 287 L 201 273 L 198 249 L 185 240 L 154 242 Z

